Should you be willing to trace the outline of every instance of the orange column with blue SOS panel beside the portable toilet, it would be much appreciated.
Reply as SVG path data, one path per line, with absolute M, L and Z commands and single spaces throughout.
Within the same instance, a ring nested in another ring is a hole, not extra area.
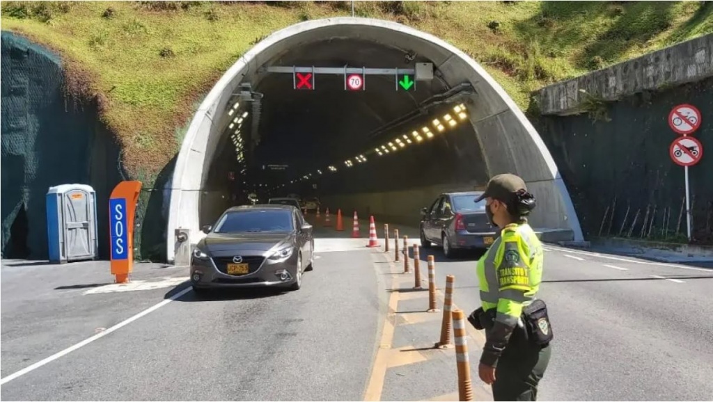
M 118 284 L 129 282 L 133 269 L 134 214 L 140 191 L 140 181 L 125 181 L 116 185 L 109 197 L 111 274 Z

